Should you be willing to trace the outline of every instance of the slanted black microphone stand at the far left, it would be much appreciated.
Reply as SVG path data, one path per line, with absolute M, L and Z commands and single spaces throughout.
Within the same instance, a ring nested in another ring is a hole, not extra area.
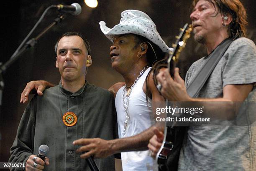
M 3 80 L 3 73 L 5 70 L 9 68 L 11 64 L 13 64 L 26 50 L 34 47 L 34 45 L 37 43 L 38 39 L 41 38 L 48 30 L 50 30 L 54 25 L 57 25 L 64 19 L 64 15 L 60 14 L 57 18 L 54 19 L 54 21 L 47 26 L 41 33 L 39 33 L 35 38 L 32 38 L 27 41 L 27 43 L 21 48 L 18 53 L 16 53 L 14 56 L 12 56 L 4 65 L 0 63 L 0 107 L 2 106 L 2 98 L 3 98 L 3 88 L 4 88 L 4 80 Z

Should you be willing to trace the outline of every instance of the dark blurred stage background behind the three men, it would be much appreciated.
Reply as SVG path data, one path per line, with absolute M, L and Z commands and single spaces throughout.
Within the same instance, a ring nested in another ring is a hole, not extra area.
M 2 10 L 2 53 L 0 62 L 5 63 L 15 49 L 26 37 L 44 10 L 52 4 L 79 3 L 82 13 L 77 16 L 70 14 L 44 37 L 36 46 L 23 54 L 19 60 L 3 74 L 5 88 L 3 106 L 0 110 L 0 162 L 7 162 L 9 149 L 13 144 L 18 124 L 26 104 L 20 104 L 20 93 L 26 83 L 31 80 L 48 80 L 58 84 L 59 70 L 55 68 L 56 55 L 54 44 L 65 32 L 81 32 L 91 43 L 92 66 L 87 73 L 87 80 L 97 86 L 109 88 L 113 83 L 123 81 L 122 76 L 111 68 L 109 47 L 111 42 L 100 31 L 99 22 L 106 22 L 109 28 L 120 22 L 123 10 L 135 9 L 147 13 L 156 24 L 158 31 L 167 45 L 175 42 L 175 35 L 185 23 L 190 23 L 191 0 L 98 0 L 97 8 L 89 8 L 84 2 L 71 0 L 15 0 L 4 3 Z M 248 13 L 248 38 L 254 42 L 255 37 L 255 0 L 241 0 Z M 58 13 L 50 10 L 38 26 L 34 37 L 49 25 Z M 188 67 L 205 55 L 204 48 L 190 38 L 179 61 L 181 75 L 184 76 Z

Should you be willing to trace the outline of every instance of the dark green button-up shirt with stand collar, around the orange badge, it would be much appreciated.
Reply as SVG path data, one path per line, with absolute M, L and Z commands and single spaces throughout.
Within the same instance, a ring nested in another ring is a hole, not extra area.
M 79 138 L 115 138 L 114 105 L 112 93 L 89 83 L 76 93 L 65 90 L 61 83 L 46 89 L 43 96 L 34 96 L 24 111 L 9 161 L 26 163 L 30 155 L 38 154 L 39 146 L 46 144 L 50 165 L 44 170 L 90 171 L 72 142 Z M 77 115 L 74 126 L 63 123 L 62 116 L 67 112 Z M 95 162 L 101 171 L 115 170 L 114 156 Z

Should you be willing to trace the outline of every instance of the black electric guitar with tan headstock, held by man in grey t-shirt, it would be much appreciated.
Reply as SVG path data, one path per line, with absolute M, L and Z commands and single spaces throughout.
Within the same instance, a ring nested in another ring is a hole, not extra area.
M 187 39 L 190 37 L 192 26 L 185 24 L 184 28 L 180 30 L 181 33 L 177 36 L 176 43 L 172 45 L 174 51 L 169 53 L 167 61 L 168 69 L 172 77 L 179 55 L 185 47 Z M 166 100 L 166 106 L 168 106 L 168 100 Z M 171 127 L 167 127 L 165 123 L 164 141 L 156 155 L 159 171 L 175 171 L 178 169 L 179 153 L 186 129 L 187 127 L 175 126 L 175 122 Z M 170 153 L 172 155 L 170 155 Z

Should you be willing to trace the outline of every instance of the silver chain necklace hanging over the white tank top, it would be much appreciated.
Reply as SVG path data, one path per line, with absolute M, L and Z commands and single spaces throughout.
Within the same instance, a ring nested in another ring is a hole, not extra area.
M 148 68 L 149 65 L 146 65 L 140 72 L 140 74 L 138 75 L 137 79 L 134 81 L 133 85 L 130 86 L 130 87 L 127 87 L 127 85 L 125 84 L 124 88 L 123 88 L 123 107 L 125 109 L 125 121 L 123 122 L 124 124 L 124 128 L 123 128 L 123 136 L 125 135 L 126 133 L 126 128 L 127 128 L 127 125 L 128 125 L 128 120 L 130 118 L 130 113 L 129 113 L 129 98 L 130 98 L 130 95 L 131 95 L 131 91 L 133 90 L 133 87 L 134 85 L 137 83 L 138 79 L 141 78 L 141 75 L 145 72 L 146 68 Z M 126 98 L 127 98 L 127 101 L 125 103 L 125 88 L 129 88 L 127 93 L 126 93 Z

